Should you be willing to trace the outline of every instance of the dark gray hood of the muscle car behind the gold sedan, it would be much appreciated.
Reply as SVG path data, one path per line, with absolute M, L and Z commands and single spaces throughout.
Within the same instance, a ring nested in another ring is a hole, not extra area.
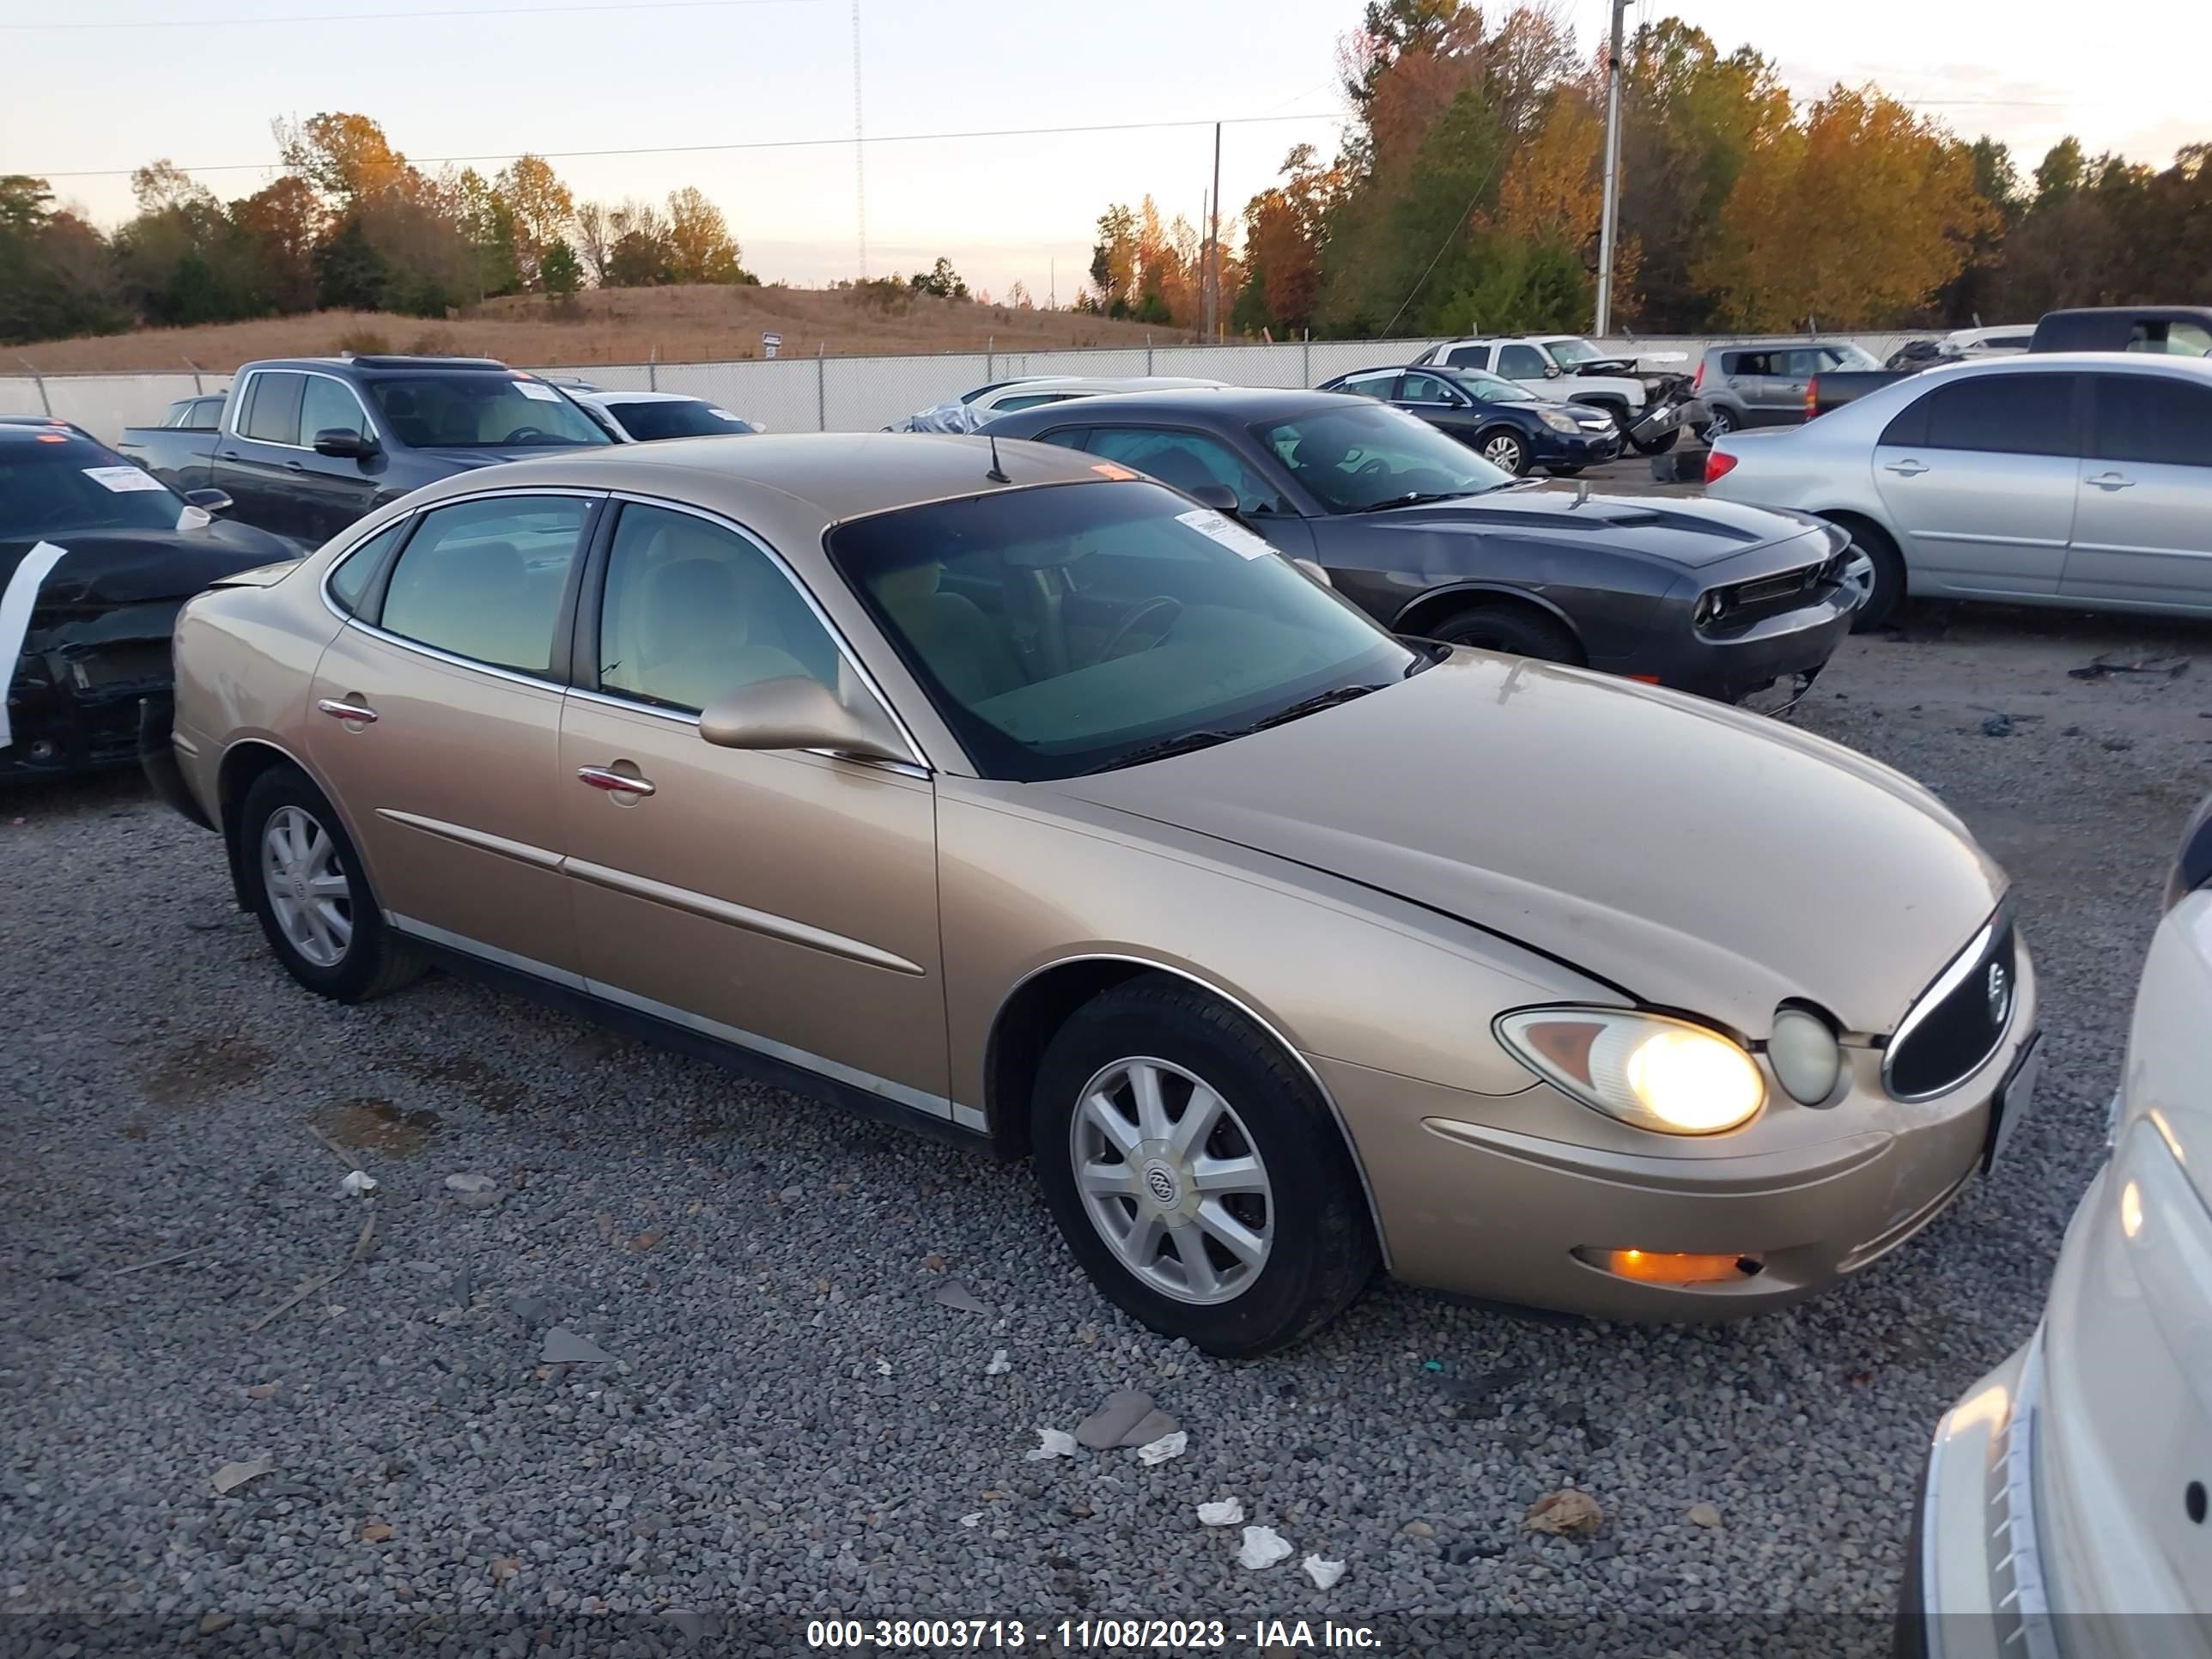
M 1595 495 L 1586 489 L 1504 489 L 1427 507 L 1367 513 L 1389 531 L 1511 533 L 1524 542 L 1655 560 L 1694 571 L 1767 542 L 1805 535 L 1812 522 L 1794 513 L 1717 500 L 1661 495 Z

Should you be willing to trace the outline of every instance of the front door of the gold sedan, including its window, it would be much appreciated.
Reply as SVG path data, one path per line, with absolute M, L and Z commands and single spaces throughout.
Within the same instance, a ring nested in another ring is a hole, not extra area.
M 672 504 L 619 502 L 586 591 L 555 790 L 588 989 L 947 1117 L 929 774 L 699 737 L 761 679 L 876 699 L 854 657 L 763 540 Z

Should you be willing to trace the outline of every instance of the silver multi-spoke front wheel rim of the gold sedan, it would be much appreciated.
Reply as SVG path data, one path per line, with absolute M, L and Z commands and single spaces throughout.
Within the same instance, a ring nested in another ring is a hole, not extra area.
M 1250 1290 L 1274 1245 L 1274 1190 L 1237 1108 L 1166 1060 L 1097 1071 L 1068 1119 L 1091 1225 L 1146 1287 L 1181 1303 Z

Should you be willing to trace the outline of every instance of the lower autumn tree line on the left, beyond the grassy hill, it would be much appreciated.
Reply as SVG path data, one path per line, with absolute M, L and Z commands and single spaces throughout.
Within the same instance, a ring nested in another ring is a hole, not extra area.
M 425 173 L 367 115 L 279 119 L 281 177 L 223 201 L 170 161 L 131 175 L 104 234 L 46 179 L 0 175 L 0 341 L 343 307 L 447 316 L 498 294 L 757 283 L 703 192 L 575 201 L 551 164 Z

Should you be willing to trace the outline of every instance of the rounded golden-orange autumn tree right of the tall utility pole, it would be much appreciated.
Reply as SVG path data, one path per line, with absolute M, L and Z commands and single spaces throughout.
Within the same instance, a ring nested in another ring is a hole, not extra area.
M 1736 327 L 1882 325 L 1929 305 L 1993 221 L 1944 133 L 1871 88 L 1836 86 L 1752 153 L 1694 274 Z

